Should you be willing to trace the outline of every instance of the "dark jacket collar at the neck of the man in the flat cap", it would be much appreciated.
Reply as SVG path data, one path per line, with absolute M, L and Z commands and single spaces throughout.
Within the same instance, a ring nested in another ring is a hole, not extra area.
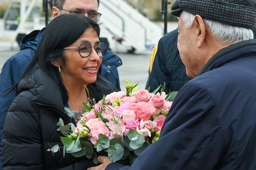
M 233 59 L 243 58 L 251 53 L 256 53 L 256 39 L 240 41 L 236 44 L 227 46 L 209 59 L 197 76 L 220 67 Z

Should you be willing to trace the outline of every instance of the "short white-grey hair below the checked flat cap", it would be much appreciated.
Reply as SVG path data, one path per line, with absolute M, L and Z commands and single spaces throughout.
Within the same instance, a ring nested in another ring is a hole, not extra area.
M 186 28 L 190 28 L 194 23 L 195 15 L 183 11 L 180 18 L 184 21 L 184 26 Z M 251 29 L 231 26 L 213 20 L 203 19 L 203 21 L 207 26 L 209 26 L 210 32 L 213 36 L 224 44 L 253 39 L 253 32 Z

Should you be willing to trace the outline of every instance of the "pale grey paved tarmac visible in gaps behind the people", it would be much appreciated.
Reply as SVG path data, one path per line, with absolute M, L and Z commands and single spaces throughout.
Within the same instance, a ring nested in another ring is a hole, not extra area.
M 0 70 L 4 63 L 13 54 L 19 51 L 19 47 L 13 43 L 0 42 Z M 118 67 L 121 90 L 125 91 L 126 80 L 139 83 L 138 89 L 144 89 L 148 79 L 148 67 L 150 51 L 141 54 L 118 53 L 121 57 L 123 65 Z

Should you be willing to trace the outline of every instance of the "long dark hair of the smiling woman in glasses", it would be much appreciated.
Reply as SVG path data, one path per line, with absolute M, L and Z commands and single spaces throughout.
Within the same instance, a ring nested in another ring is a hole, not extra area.
M 88 17 L 63 14 L 52 20 L 45 28 L 37 52 L 20 80 L 33 72 L 36 65 L 36 68 L 40 68 L 54 78 L 60 87 L 63 102 L 66 103 L 68 101 L 67 89 L 62 83 L 58 67 L 51 64 L 51 61 L 61 59 L 65 62 L 63 48 L 72 44 L 90 27 L 94 28 L 100 36 L 100 27 Z M 18 84 L 19 82 L 15 85 L 15 89 L 17 89 Z

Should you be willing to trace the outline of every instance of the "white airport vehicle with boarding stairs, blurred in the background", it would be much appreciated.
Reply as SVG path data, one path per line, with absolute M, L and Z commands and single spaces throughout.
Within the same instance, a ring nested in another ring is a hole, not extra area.
M 123 0 L 101 0 L 101 39 L 115 52 L 151 49 L 162 37 L 162 27 Z M 0 40 L 17 41 L 45 26 L 43 0 L 12 0 L 0 24 Z M 49 10 L 49 14 L 50 14 Z M 49 21 L 51 18 L 48 19 Z

